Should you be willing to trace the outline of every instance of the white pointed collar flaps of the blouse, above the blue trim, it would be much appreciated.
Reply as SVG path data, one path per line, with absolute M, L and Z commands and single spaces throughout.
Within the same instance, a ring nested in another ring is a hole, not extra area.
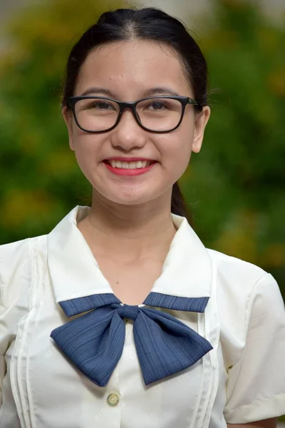
M 113 293 L 77 227 L 90 207 L 76 206 L 48 234 L 48 268 L 56 302 Z M 212 262 L 187 219 L 171 214 L 177 228 L 152 292 L 177 297 L 210 297 Z

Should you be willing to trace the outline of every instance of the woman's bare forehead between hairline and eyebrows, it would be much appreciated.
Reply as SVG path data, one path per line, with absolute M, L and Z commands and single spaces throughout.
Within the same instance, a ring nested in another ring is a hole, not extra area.
M 91 51 L 81 66 L 76 95 L 92 86 L 125 96 L 155 86 L 192 95 L 180 58 L 167 45 L 152 41 L 116 41 Z

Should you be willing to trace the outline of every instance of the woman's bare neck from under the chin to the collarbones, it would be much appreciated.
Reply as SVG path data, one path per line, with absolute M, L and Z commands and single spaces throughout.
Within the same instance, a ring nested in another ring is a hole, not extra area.
M 78 229 L 95 256 L 122 263 L 147 258 L 163 263 L 176 232 L 171 194 L 167 196 L 140 205 L 120 205 L 93 195 L 88 216 L 78 223 Z

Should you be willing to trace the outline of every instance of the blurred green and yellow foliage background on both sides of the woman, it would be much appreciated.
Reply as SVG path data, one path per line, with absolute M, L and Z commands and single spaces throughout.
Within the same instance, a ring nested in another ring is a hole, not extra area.
M 196 37 L 212 117 L 180 184 L 204 245 L 271 272 L 285 296 L 285 30 L 257 4 L 212 3 Z M 91 189 L 68 148 L 61 79 L 71 46 L 114 6 L 128 3 L 38 1 L 2 29 L 10 44 L 0 58 L 0 243 L 48 233 L 86 205 Z

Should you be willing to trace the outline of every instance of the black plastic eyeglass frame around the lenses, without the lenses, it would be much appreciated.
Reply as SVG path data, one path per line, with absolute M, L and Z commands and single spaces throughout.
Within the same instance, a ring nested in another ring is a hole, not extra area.
M 180 101 L 180 103 L 181 103 L 182 112 L 181 112 L 180 121 L 177 123 L 177 126 L 175 126 L 174 128 L 172 128 L 172 129 L 170 129 L 168 131 L 153 131 L 152 129 L 146 128 L 145 126 L 142 125 L 142 123 L 140 121 L 140 116 L 138 116 L 138 113 L 136 111 L 136 106 L 137 106 L 138 103 L 140 103 L 140 101 L 146 101 L 146 100 L 151 100 L 151 99 L 156 99 L 156 98 L 160 98 L 160 99 L 168 98 L 168 99 L 173 99 L 173 100 Z M 117 103 L 118 106 L 119 106 L 119 108 L 120 108 L 120 110 L 118 112 L 118 118 L 115 121 L 115 124 L 113 126 L 111 126 L 111 128 L 105 129 L 103 131 L 88 131 L 87 129 L 83 128 L 78 123 L 78 119 L 76 117 L 76 103 L 78 101 L 86 100 L 86 99 L 103 99 L 103 100 L 113 101 L 113 102 Z M 171 95 L 147 96 L 146 98 L 140 98 L 140 100 L 130 101 L 130 102 L 118 101 L 118 100 L 115 100 L 115 98 L 109 98 L 109 97 L 106 97 L 106 96 L 71 96 L 71 97 L 68 98 L 68 105 L 71 108 L 74 120 L 76 121 L 76 125 L 78 126 L 78 128 L 81 128 L 82 131 L 85 131 L 85 132 L 88 132 L 88 133 L 104 133 L 104 132 L 112 131 L 112 129 L 114 129 L 118 125 L 118 123 L 120 122 L 120 118 L 122 117 L 122 114 L 123 114 L 123 111 L 125 110 L 125 108 L 130 108 L 130 110 L 133 112 L 133 116 L 135 118 L 135 121 L 138 123 L 138 125 L 142 129 L 145 129 L 145 131 L 149 131 L 149 132 L 153 132 L 153 133 L 167 133 L 167 132 L 172 132 L 172 131 L 175 131 L 175 129 L 177 129 L 178 126 L 180 126 L 180 124 L 181 124 L 181 122 L 183 120 L 183 117 L 184 117 L 185 108 L 186 108 L 187 104 L 191 104 L 192 106 L 198 106 L 199 108 L 203 107 L 202 104 L 197 103 L 197 101 L 195 101 L 195 99 L 189 98 L 187 96 L 171 96 Z

